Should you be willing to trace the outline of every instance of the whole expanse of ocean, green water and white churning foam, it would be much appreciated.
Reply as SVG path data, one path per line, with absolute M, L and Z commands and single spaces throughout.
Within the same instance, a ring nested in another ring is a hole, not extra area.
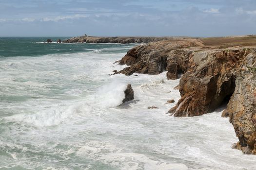
M 223 108 L 175 118 L 179 80 L 110 76 L 136 44 L 46 39 L 0 38 L 0 170 L 256 169 Z M 127 84 L 135 99 L 119 106 Z

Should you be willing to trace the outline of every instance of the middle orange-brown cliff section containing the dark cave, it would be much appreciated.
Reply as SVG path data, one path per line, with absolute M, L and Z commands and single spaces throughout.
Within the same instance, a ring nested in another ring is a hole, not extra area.
M 235 90 L 236 71 L 250 52 L 244 49 L 193 51 L 181 77 L 181 99 L 169 110 L 174 116 L 199 116 L 214 111 Z

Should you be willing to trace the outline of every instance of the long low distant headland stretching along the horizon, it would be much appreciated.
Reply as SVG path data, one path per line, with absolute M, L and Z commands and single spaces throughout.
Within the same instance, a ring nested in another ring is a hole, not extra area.
M 62 41 L 63 43 L 149 43 L 168 39 L 188 39 L 188 37 L 97 37 L 77 36 Z

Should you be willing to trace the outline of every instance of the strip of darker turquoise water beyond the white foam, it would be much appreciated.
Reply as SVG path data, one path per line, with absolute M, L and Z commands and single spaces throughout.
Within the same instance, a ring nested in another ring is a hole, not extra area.
M 49 37 L 54 41 L 59 38 L 64 40 L 68 37 Z M 122 44 L 84 44 L 75 43 L 67 44 L 62 43 L 44 43 L 47 37 L 0 37 L 0 57 L 13 57 L 13 56 L 39 56 L 47 54 L 61 54 L 61 53 L 74 53 L 74 52 L 89 52 L 92 50 L 102 49 L 103 52 L 124 52 L 127 51 L 130 45 Z M 115 47 L 115 49 L 112 49 Z M 111 50 L 112 49 L 112 50 Z

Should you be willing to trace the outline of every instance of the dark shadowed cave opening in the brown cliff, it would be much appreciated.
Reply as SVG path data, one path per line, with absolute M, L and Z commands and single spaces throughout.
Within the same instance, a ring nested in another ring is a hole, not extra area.
M 228 81 L 225 81 L 221 85 L 220 97 L 222 98 L 222 102 L 220 106 L 227 106 L 231 96 L 233 95 L 236 88 L 236 77 L 232 75 Z

